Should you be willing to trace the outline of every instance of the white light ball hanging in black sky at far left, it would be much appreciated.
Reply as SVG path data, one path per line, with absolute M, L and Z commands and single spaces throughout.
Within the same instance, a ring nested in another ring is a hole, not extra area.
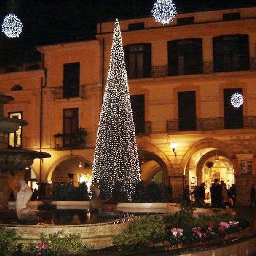
M 2 32 L 9 38 L 18 37 L 22 33 L 22 21 L 14 14 L 10 13 L 5 16 L 2 23 Z

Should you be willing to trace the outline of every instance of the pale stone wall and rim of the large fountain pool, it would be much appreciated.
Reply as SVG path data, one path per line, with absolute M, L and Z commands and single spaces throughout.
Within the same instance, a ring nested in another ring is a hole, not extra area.
M 30 201 L 29 207 L 37 209 L 37 205 L 41 201 Z M 53 201 L 52 204 L 57 205 L 57 209 L 88 209 L 89 201 Z M 15 202 L 9 202 L 9 207 L 14 209 Z M 172 209 L 173 207 L 173 209 Z M 172 210 L 170 210 L 172 209 Z M 177 203 L 118 203 L 117 210 L 123 212 L 159 212 L 175 213 L 179 210 Z M 197 210 L 197 209 L 196 209 Z M 208 212 L 210 209 L 200 209 L 200 211 Z M 128 228 L 131 217 L 117 219 L 115 221 L 82 224 L 82 225 L 58 225 L 58 226 L 42 226 L 42 225 L 4 225 L 8 228 L 14 228 L 20 236 L 20 243 L 38 243 L 40 242 L 40 233 L 54 233 L 63 231 L 65 234 L 80 233 L 82 241 L 93 246 L 95 249 L 101 249 L 112 245 L 115 234 L 120 233 Z M 125 222 L 126 221 L 126 222 Z

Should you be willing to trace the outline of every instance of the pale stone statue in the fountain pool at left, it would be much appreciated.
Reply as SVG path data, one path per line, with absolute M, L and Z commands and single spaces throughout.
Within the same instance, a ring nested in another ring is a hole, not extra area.
M 32 189 L 26 184 L 25 180 L 18 180 L 19 191 L 16 197 L 17 218 L 25 223 L 37 223 L 35 211 L 28 207 L 28 202 L 33 194 Z

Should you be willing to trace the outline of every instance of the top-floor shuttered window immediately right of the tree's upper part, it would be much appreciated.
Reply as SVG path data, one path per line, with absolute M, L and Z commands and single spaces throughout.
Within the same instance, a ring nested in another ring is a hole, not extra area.
M 151 77 L 151 44 L 128 45 L 124 51 L 130 79 Z

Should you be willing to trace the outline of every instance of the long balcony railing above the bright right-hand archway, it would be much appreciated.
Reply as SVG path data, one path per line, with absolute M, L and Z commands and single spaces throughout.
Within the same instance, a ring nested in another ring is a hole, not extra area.
M 234 120 L 237 121 L 237 120 Z M 238 122 L 234 122 L 236 124 Z M 242 121 L 239 122 L 241 125 L 234 125 L 233 127 L 225 125 L 224 117 L 209 117 L 209 118 L 197 118 L 195 129 L 182 129 L 179 127 L 179 119 L 166 120 L 166 132 L 174 131 L 212 131 L 212 130 L 222 130 L 222 129 L 237 129 L 237 128 L 256 128 L 256 116 L 244 116 Z

